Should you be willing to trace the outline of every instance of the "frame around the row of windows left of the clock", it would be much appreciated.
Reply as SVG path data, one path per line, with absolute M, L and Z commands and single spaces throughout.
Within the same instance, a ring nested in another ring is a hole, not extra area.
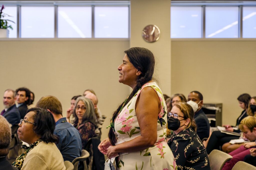
M 39 2 L 7 2 L 7 1 L 0 1 L 1 5 L 4 6 L 16 6 L 17 7 L 17 37 L 16 38 L 0 38 L 0 40 L 9 40 L 9 41 L 16 41 L 16 40 L 54 40 L 54 41 L 59 41 L 59 40 L 91 40 L 91 41 L 97 41 L 97 40 L 116 40 L 116 41 L 125 41 L 125 40 L 130 40 L 130 28 L 131 28 L 131 14 L 130 14 L 130 1 L 107 1 L 107 2 L 72 2 L 72 1 L 67 1 L 67 2 L 59 2 L 59 1 L 39 1 Z M 21 6 L 53 6 L 54 7 L 54 38 L 21 38 Z M 92 37 L 91 38 L 58 38 L 58 6 L 90 6 L 92 7 L 92 25 L 91 25 L 91 31 L 92 31 Z M 128 7 L 128 38 L 95 38 L 95 33 L 94 33 L 94 7 L 96 6 L 110 6 L 110 7 Z

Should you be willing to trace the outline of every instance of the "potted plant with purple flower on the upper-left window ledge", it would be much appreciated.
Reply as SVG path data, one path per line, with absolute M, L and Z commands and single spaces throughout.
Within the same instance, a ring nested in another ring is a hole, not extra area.
M 4 19 L 4 17 L 11 17 L 8 14 L 3 13 L 4 5 L 2 5 L 0 9 L 0 38 L 7 38 L 9 35 L 9 30 L 7 28 L 13 29 L 11 25 L 8 25 L 8 21 L 13 22 L 8 19 Z M 13 22 L 15 23 L 15 22 Z

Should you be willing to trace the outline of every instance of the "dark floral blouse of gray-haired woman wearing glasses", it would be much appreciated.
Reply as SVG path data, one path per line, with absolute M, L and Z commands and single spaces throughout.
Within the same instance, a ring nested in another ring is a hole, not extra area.
M 82 136 L 82 149 L 85 148 L 88 139 L 97 136 L 95 133 L 95 125 L 91 122 L 83 122 L 79 126 L 74 124 L 74 127 L 79 131 Z

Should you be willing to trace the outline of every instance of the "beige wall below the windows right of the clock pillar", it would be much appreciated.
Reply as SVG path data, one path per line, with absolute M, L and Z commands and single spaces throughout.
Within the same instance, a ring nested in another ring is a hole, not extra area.
M 256 96 L 256 41 L 172 41 L 172 94 L 198 90 L 223 103 L 222 122 L 235 125 L 237 97 Z

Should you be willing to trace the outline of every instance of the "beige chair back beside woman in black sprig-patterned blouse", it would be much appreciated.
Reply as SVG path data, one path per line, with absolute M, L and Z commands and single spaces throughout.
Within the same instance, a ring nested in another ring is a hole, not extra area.
M 221 170 L 223 165 L 233 158 L 230 154 L 214 149 L 209 154 L 211 170 Z

